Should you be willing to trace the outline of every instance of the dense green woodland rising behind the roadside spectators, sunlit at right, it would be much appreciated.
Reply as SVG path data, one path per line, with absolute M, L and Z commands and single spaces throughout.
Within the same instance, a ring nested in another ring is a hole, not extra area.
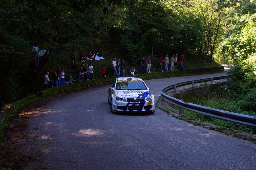
M 187 52 L 202 65 L 239 64 L 240 78 L 252 88 L 255 9 L 255 0 L 2 0 L 0 97 L 9 103 L 39 90 L 45 67 L 60 50 L 70 58 L 71 49 L 96 53 L 109 44 L 130 62 L 144 54 Z M 31 71 L 34 43 L 49 54 Z

